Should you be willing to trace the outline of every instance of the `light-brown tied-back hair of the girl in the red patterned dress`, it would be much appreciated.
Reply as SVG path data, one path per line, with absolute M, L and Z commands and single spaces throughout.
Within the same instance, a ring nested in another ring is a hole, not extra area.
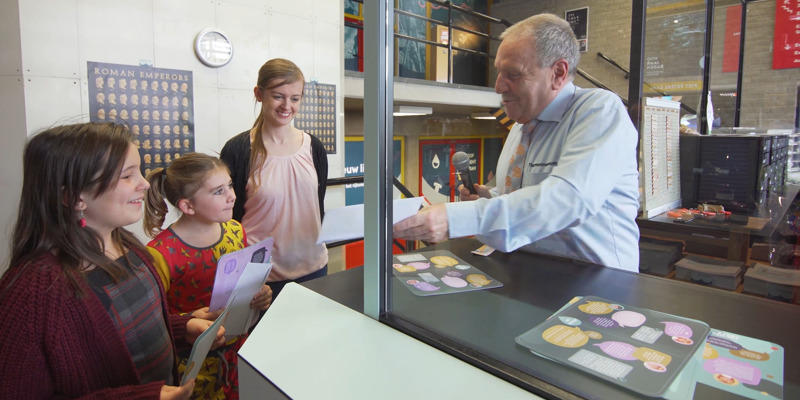
M 203 186 L 208 176 L 218 170 L 228 174 L 228 166 L 219 158 L 202 153 L 186 153 L 175 159 L 167 168 L 156 168 L 147 174 L 150 190 L 144 201 L 144 232 L 155 237 L 161 232 L 169 208 L 183 199 L 191 199 Z

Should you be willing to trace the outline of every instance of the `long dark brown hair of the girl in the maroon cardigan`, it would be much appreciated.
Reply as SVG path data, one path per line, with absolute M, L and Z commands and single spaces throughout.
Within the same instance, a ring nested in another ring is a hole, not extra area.
M 78 279 L 87 266 L 105 270 L 115 281 L 128 276 L 105 255 L 100 235 L 80 226 L 75 205 L 81 193 L 97 197 L 116 187 L 132 145 L 128 128 L 113 123 L 57 126 L 26 143 L 9 273 L 21 273 L 32 260 L 52 252 L 76 296 L 83 294 Z M 136 236 L 123 227 L 114 229 L 111 237 L 121 249 L 144 250 Z

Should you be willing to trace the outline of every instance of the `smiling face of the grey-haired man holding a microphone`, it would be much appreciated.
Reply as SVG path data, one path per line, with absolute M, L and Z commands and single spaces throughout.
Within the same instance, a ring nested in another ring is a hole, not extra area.
M 503 96 L 506 114 L 524 124 L 538 117 L 558 94 L 552 67 L 540 68 L 531 40 L 505 38 L 497 49 L 494 91 Z

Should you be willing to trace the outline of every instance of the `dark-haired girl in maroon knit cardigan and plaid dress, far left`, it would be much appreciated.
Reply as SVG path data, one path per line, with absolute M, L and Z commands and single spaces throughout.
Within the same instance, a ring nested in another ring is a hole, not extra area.
M 27 143 L 0 279 L 0 396 L 189 397 L 193 380 L 175 386 L 175 346 L 211 322 L 169 314 L 148 253 L 123 228 L 148 187 L 124 126 L 60 126 Z

